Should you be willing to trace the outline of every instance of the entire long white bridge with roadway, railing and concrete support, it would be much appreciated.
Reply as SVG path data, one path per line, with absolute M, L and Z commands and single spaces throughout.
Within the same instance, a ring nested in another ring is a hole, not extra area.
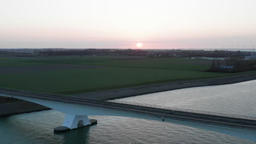
M 88 116 L 121 116 L 187 125 L 256 141 L 256 118 L 173 107 L 101 101 L 0 88 L 0 96 L 22 99 L 65 113 L 64 127 L 90 125 Z

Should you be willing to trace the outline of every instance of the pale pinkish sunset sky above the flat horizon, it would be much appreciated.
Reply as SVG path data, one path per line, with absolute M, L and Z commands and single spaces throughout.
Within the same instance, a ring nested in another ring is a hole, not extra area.
M 252 49 L 255 0 L 0 1 L 0 49 Z

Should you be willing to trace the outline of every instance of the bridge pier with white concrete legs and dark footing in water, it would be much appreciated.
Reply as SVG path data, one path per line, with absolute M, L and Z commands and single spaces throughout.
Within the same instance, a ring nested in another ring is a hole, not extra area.
M 66 114 L 62 126 L 54 128 L 55 132 L 63 132 L 84 127 L 86 125 L 97 124 L 96 119 L 89 119 L 88 116 L 77 116 Z

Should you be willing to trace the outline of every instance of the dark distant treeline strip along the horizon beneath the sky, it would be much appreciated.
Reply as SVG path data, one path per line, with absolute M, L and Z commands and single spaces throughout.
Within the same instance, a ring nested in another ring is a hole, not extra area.
M 248 52 L 226 50 L 141 50 L 141 49 L 1 49 L 13 56 L 147 56 L 147 57 L 245 57 Z

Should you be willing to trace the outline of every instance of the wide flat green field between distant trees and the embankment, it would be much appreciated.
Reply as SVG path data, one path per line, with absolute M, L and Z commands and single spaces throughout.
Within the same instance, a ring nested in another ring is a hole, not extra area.
M 187 58 L 0 57 L 0 87 L 78 94 L 234 75 L 201 71 L 208 69 L 210 65 L 211 61 L 208 60 Z

